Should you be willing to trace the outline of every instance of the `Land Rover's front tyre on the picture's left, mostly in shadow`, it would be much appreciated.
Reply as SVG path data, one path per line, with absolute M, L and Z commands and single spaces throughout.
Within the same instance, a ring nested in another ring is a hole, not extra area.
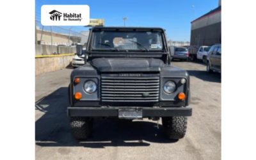
M 74 138 L 77 140 L 85 140 L 92 134 L 92 118 L 71 117 L 70 127 Z

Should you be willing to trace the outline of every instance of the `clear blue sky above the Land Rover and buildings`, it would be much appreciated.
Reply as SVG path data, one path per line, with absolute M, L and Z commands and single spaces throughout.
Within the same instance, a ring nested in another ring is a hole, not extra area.
M 35 19 L 40 21 L 43 4 L 87 4 L 91 19 L 104 19 L 105 26 L 161 27 L 168 40 L 189 41 L 191 21 L 218 7 L 218 0 L 35 0 Z M 61 26 L 70 28 L 70 26 Z M 83 26 L 73 31 L 88 31 Z

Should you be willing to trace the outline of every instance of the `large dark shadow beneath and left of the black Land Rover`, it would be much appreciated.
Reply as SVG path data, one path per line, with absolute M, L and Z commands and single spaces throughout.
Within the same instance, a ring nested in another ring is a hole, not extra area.
M 38 100 L 35 109 L 43 112 L 35 122 L 36 145 L 42 147 L 149 146 L 150 143 L 174 143 L 163 135 L 162 126 L 154 122 L 125 121 L 116 118 L 95 118 L 93 136 L 86 141 L 72 137 L 67 116 L 68 89 L 61 87 Z

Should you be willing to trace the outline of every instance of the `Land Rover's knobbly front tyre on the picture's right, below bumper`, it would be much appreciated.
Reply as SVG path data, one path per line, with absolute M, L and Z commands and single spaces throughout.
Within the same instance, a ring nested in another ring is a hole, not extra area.
M 187 122 L 186 116 L 162 117 L 164 133 L 172 140 L 178 140 L 185 136 Z

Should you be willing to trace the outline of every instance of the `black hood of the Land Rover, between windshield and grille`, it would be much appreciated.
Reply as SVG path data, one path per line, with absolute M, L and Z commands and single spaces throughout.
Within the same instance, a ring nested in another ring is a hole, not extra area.
M 91 65 L 99 72 L 160 72 L 164 63 L 153 58 L 96 58 Z

